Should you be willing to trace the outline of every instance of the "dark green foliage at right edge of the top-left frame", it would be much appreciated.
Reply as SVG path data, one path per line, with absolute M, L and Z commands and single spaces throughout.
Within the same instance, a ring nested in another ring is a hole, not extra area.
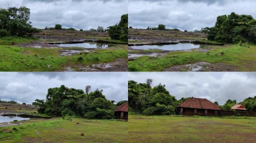
M 107 32 L 111 39 L 128 41 L 128 14 L 122 15 L 119 24 L 109 26 Z

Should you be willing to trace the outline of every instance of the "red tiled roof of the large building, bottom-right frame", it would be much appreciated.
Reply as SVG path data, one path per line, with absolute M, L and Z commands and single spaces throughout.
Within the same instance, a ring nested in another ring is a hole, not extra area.
M 218 105 L 208 101 L 207 99 L 193 97 L 182 102 L 177 107 L 220 110 Z

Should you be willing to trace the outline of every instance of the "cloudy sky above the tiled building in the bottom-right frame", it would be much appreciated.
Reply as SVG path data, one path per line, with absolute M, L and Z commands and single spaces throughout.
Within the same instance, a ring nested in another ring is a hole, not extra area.
M 243 101 L 256 96 L 255 72 L 134 72 L 129 80 L 145 83 L 153 79 L 153 86 L 165 85 L 176 99 L 182 97 L 206 98 L 220 105 L 228 99 Z

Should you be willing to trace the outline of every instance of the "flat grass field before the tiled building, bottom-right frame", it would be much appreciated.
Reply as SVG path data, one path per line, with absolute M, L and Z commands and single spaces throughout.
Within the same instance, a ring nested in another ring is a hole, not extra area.
M 129 115 L 129 143 L 256 143 L 255 117 Z

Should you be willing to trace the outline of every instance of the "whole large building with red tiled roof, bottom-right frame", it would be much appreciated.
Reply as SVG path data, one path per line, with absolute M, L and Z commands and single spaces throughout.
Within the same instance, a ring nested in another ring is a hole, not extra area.
M 176 113 L 181 115 L 218 115 L 220 107 L 203 98 L 190 98 L 177 106 Z

